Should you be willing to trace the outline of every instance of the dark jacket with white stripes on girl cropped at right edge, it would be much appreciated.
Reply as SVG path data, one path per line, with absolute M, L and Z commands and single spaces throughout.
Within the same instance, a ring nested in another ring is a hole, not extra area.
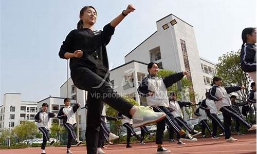
M 256 45 L 246 44 L 240 53 L 241 68 L 245 72 L 256 71 Z

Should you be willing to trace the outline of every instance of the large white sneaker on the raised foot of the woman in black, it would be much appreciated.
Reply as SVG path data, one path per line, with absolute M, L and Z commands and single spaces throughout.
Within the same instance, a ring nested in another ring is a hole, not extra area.
M 132 127 L 140 127 L 146 124 L 155 123 L 163 120 L 166 114 L 163 112 L 154 112 L 150 106 L 138 106 L 133 116 Z

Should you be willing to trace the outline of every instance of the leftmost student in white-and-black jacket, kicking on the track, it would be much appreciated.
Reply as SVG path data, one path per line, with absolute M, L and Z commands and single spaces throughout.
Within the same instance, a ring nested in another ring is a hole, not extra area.
M 54 143 L 54 140 L 49 137 L 50 130 L 50 118 L 56 117 L 56 113 L 51 113 L 47 111 L 48 104 L 42 104 L 42 110 L 35 114 L 34 120 L 36 122 L 36 126 L 43 134 L 43 142 L 41 144 L 41 154 L 45 154 L 46 142 L 48 141 L 50 145 Z

